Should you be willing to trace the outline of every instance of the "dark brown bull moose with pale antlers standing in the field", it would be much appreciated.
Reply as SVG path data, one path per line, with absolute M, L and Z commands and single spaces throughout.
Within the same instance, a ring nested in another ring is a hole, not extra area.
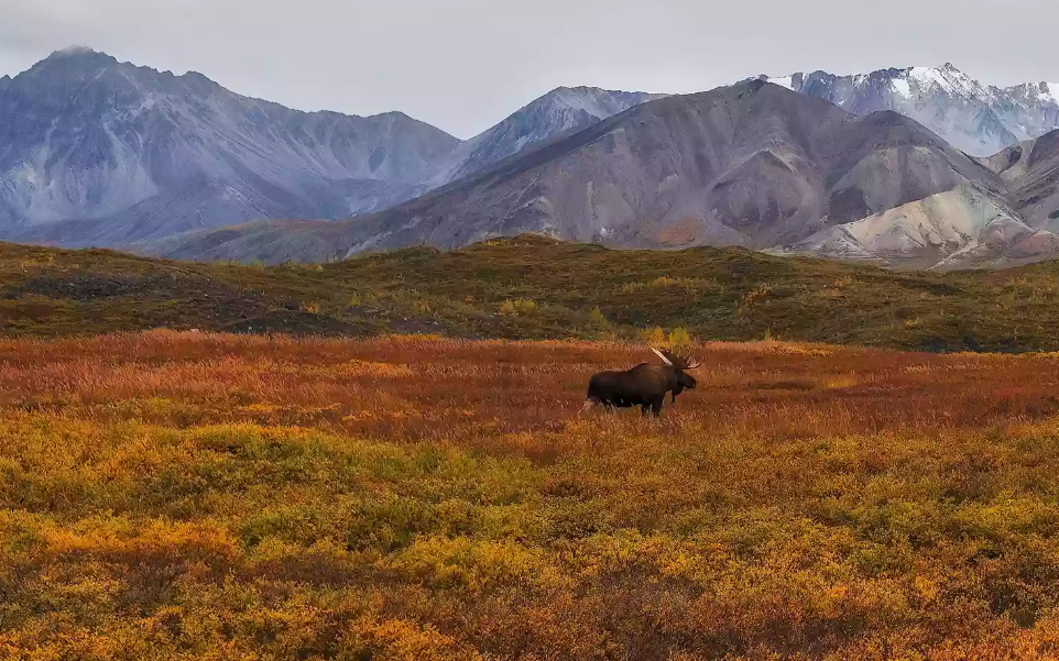
M 608 411 L 615 408 L 638 406 L 646 416 L 649 410 L 662 416 L 666 395 L 673 393 L 673 403 L 684 390 L 694 390 L 698 383 L 688 372 L 699 367 L 699 361 L 681 357 L 665 350 L 654 349 L 665 363 L 643 363 L 625 372 L 601 372 L 589 381 L 588 398 L 581 411 L 602 405 Z

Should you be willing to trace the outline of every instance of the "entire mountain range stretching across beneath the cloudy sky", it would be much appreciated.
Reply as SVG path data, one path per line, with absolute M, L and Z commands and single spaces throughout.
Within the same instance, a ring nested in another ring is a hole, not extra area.
M 559 88 L 461 143 L 57 53 L 0 78 L 0 240 L 266 262 L 526 231 L 939 268 L 1059 255 L 1056 86 L 951 65 L 774 82 Z

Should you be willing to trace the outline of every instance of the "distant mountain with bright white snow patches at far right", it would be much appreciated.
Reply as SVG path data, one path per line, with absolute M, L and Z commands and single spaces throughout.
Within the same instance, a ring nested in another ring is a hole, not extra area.
M 899 112 L 972 156 L 991 156 L 1059 128 L 1059 84 L 998 88 L 975 80 L 952 64 L 855 76 L 814 71 L 767 79 L 856 114 Z

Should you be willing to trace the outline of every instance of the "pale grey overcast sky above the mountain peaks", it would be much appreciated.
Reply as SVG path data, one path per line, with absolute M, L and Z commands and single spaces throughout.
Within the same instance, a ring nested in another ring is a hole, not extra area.
M 0 0 L 0 74 L 72 45 L 469 137 L 560 85 L 691 92 L 952 62 L 1059 81 L 1057 0 Z

